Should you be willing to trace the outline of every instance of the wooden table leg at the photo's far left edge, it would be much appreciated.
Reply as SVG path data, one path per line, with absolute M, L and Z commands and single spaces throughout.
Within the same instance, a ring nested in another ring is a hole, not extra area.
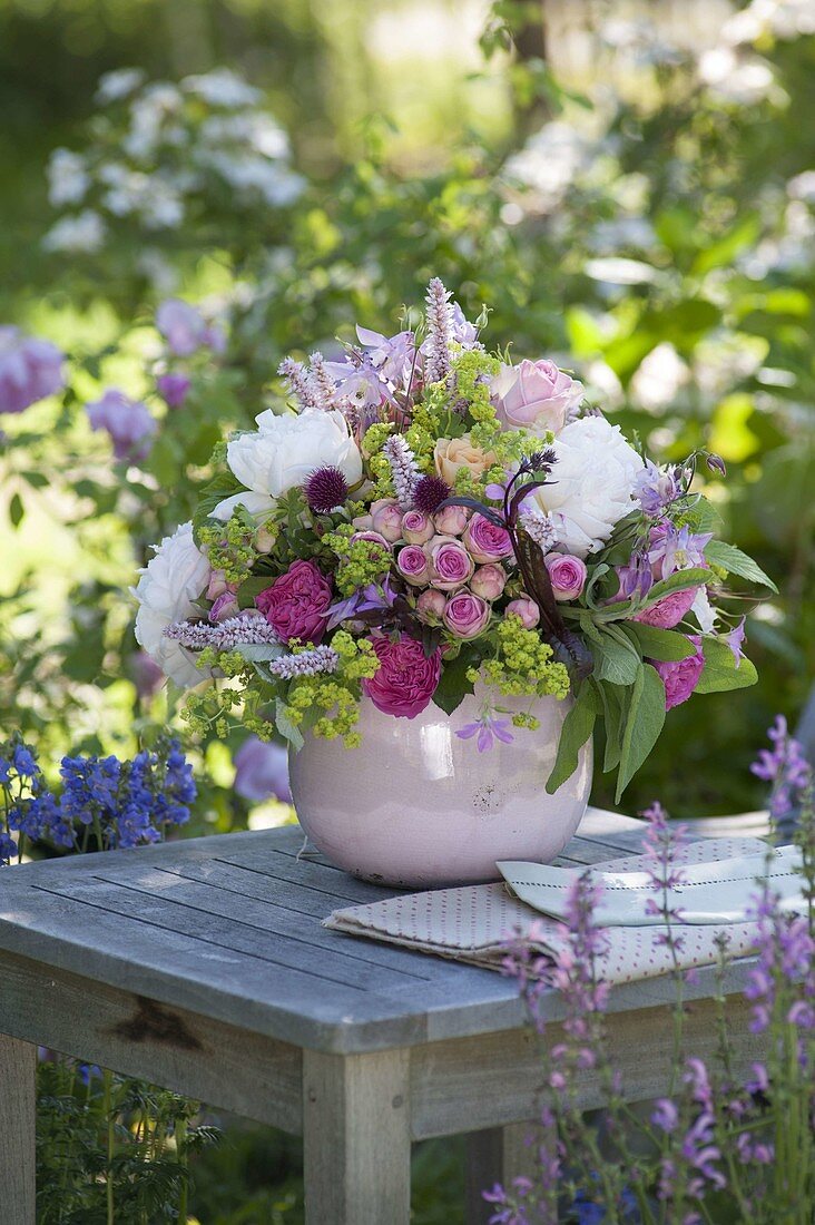
M 37 1047 L 0 1034 L 0 1225 L 34 1225 Z

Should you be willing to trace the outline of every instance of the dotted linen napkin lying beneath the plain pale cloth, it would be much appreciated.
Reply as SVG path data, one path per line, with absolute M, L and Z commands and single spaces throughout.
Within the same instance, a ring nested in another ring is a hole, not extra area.
M 767 845 L 757 838 L 711 838 L 690 843 L 683 848 L 677 856 L 677 862 L 692 867 L 694 865 L 721 864 L 727 860 L 744 864 L 745 860 L 751 859 L 760 869 L 759 875 L 762 875 L 766 854 Z M 515 866 L 517 865 L 514 865 L 514 869 Z M 525 870 L 528 866 L 522 865 Z M 594 864 L 588 871 L 631 876 L 645 872 L 647 866 L 648 861 L 645 856 L 627 855 Z M 787 867 L 788 865 L 776 859 L 773 866 Z M 582 872 L 586 870 L 565 871 Z M 515 871 L 511 875 L 516 875 Z M 778 876 L 782 876 L 781 871 Z M 701 881 L 700 883 L 711 884 L 713 882 Z M 773 888 L 776 886 L 777 882 L 773 881 Z M 713 884 L 713 887 L 717 886 Z M 679 902 L 679 905 L 683 905 L 683 900 Z M 700 910 L 700 913 L 702 911 Z M 739 916 L 741 914 L 743 911 L 738 911 Z M 366 905 L 347 907 L 342 910 L 335 910 L 328 919 L 324 920 L 324 924 L 335 931 L 368 936 L 373 940 L 382 940 L 392 944 L 401 944 L 406 948 L 494 970 L 501 969 L 506 956 L 506 941 L 512 937 L 529 940 L 532 935 L 531 943 L 544 954 L 554 956 L 565 947 L 560 921 L 533 909 L 520 897 L 512 897 L 506 886 L 500 882 L 411 893 Z M 598 973 L 605 981 L 613 984 L 631 982 L 654 978 L 673 968 L 670 951 L 662 944 L 659 940 L 662 933 L 658 926 L 626 924 L 610 927 L 609 933 L 608 951 L 598 965 Z M 727 936 L 729 956 L 741 957 L 749 953 L 755 944 L 756 925 L 750 921 L 706 921 L 683 925 L 680 965 L 684 969 L 691 969 L 716 963 L 718 959 L 717 936 L 721 935 Z

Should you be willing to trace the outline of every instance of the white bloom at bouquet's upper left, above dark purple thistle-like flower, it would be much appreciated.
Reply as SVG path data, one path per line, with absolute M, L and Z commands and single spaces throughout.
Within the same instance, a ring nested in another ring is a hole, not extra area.
M 227 462 L 252 494 L 252 513 L 271 510 L 275 499 L 301 485 L 315 468 L 338 468 L 349 485 L 362 479 L 363 461 L 342 413 L 310 409 L 277 417 L 271 409 L 256 418 L 257 430 L 241 434 L 227 447 Z M 237 495 L 239 499 L 243 495 Z M 214 510 L 223 517 L 227 499 Z

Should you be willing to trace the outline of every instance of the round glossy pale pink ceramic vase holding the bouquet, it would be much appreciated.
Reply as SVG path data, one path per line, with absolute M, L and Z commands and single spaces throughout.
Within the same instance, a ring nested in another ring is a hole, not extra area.
M 501 698 L 511 712 L 528 699 Z M 294 807 L 310 840 L 338 867 L 386 884 L 436 887 L 494 881 L 496 860 L 548 862 L 572 837 L 588 804 L 591 740 L 555 793 L 545 782 L 570 699 L 542 698 L 536 731 L 479 753 L 456 731 L 478 719 L 466 697 L 452 715 L 435 703 L 415 719 L 363 699 L 359 748 L 306 736 L 290 755 Z

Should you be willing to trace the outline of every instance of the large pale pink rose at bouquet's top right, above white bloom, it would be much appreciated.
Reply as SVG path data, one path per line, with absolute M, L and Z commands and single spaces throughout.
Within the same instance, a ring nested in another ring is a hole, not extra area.
M 569 412 L 583 394 L 582 383 L 558 370 L 554 361 L 522 361 L 502 366 L 493 380 L 498 419 L 507 429 L 523 426 L 533 434 L 563 430 Z

